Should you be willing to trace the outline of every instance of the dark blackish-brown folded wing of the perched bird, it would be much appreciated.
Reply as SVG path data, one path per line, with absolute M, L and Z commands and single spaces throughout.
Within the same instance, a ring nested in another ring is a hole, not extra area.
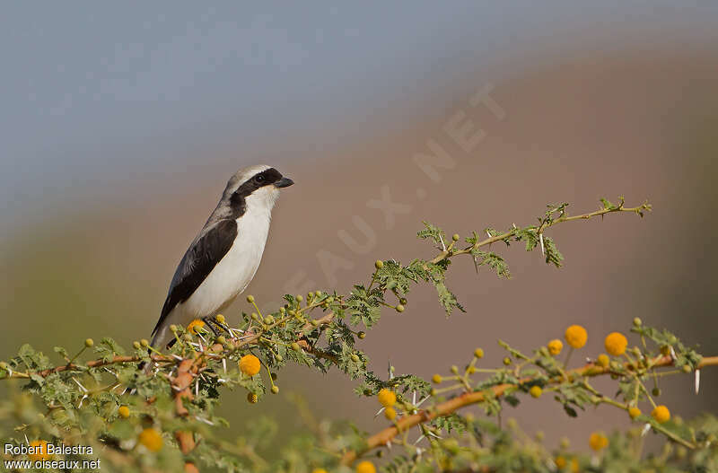
M 170 291 L 162 306 L 160 320 L 157 321 L 157 325 L 152 331 L 153 335 L 172 309 L 180 302 L 187 301 L 189 296 L 197 290 L 206 276 L 232 248 L 236 237 L 237 222 L 220 220 L 189 247 L 172 277 Z

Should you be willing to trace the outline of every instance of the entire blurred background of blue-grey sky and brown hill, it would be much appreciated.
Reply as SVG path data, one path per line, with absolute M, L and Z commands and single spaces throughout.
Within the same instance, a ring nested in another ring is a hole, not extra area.
M 375 372 L 428 378 L 477 346 L 498 365 L 497 338 L 528 351 L 572 323 L 595 356 L 636 316 L 718 354 L 718 5 L 689 4 L 5 5 L 0 358 L 25 342 L 54 355 L 85 337 L 149 337 L 226 180 L 258 162 L 296 182 L 248 290 L 266 308 L 347 293 L 377 258 L 432 256 L 422 220 L 466 236 L 533 223 L 547 203 L 652 202 L 644 220 L 551 230 L 561 270 L 520 245 L 495 247 L 510 281 L 458 260 L 450 282 L 467 313 L 447 319 L 433 288 L 411 293 L 361 344 Z M 469 120 L 463 149 L 446 129 Z M 443 167 L 425 172 L 416 156 L 437 146 Z M 716 379 L 705 371 L 696 396 L 692 376 L 675 378 L 661 400 L 717 413 Z M 318 417 L 385 425 L 336 371 L 289 369 L 279 385 Z M 250 407 L 227 393 L 223 410 L 232 432 L 262 414 L 283 434 L 302 428 L 282 395 Z M 629 425 L 603 407 L 571 419 L 550 399 L 512 415 L 549 445 Z

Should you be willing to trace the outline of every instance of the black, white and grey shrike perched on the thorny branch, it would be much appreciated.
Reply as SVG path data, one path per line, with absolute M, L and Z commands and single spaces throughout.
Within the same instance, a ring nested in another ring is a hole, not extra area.
M 264 253 L 280 189 L 293 183 L 266 164 L 232 176 L 175 270 L 152 332 L 153 348 L 171 346 L 172 324 L 187 327 L 192 320 L 203 320 L 214 329 L 215 315 L 250 285 Z

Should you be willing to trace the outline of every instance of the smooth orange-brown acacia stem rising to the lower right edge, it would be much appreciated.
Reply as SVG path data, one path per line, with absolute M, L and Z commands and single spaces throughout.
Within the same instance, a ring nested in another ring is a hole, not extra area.
M 670 356 L 658 356 L 652 360 L 651 365 L 652 367 L 663 367 L 671 366 L 672 364 L 673 358 L 671 358 Z M 624 367 L 630 371 L 629 366 L 630 364 L 628 363 L 624 365 Z M 696 369 L 699 370 L 707 366 L 718 366 L 718 356 L 704 357 L 701 360 L 700 364 L 698 364 Z M 598 364 L 590 363 L 585 364 L 581 368 L 574 368 L 573 370 L 569 370 L 566 372 L 566 374 L 578 377 L 594 377 L 603 374 L 610 374 L 611 372 L 613 371 L 609 367 L 604 368 Z M 344 454 L 344 457 L 342 457 L 341 463 L 343 465 L 351 465 L 352 462 L 354 462 L 354 460 L 356 460 L 360 455 L 363 455 L 363 453 L 371 451 L 377 447 L 381 447 L 382 445 L 386 445 L 399 433 L 406 432 L 407 429 L 410 429 L 415 425 L 424 424 L 425 422 L 429 422 L 436 417 L 448 416 L 454 411 L 460 409 L 461 407 L 467 407 L 472 404 L 477 404 L 478 402 L 486 400 L 486 398 L 499 398 L 503 396 L 507 390 L 515 389 L 521 386 L 521 384 L 526 384 L 530 381 L 534 381 L 534 378 L 523 378 L 519 381 L 518 384 L 503 383 L 492 386 L 491 388 L 488 388 L 486 390 L 467 392 L 465 394 L 457 396 L 456 398 L 442 402 L 441 404 L 437 405 L 436 407 L 432 407 L 431 409 L 419 411 L 417 414 L 414 414 L 412 416 L 402 417 L 396 422 L 396 425 L 387 427 L 381 432 L 373 434 L 371 437 L 369 437 L 363 450 L 347 451 Z M 565 381 L 564 377 L 555 377 L 547 381 L 547 384 L 558 384 L 562 381 Z

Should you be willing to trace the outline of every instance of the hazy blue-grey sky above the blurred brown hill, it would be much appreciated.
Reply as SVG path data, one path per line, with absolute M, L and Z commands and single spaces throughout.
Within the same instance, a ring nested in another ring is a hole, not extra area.
M 211 162 L 207 144 L 379 129 L 538 47 L 714 37 L 716 4 L 688 4 L 5 4 L 0 216 Z

